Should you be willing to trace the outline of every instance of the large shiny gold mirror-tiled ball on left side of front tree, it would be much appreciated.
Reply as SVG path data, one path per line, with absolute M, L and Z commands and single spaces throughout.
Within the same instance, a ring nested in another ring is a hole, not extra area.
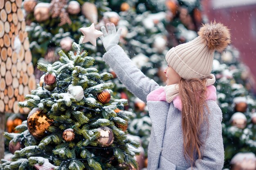
M 27 129 L 30 134 L 36 138 L 42 138 L 46 135 L 49 126 L 52 125 L 53 120 L 48 119 L 46 114 L 40 110 L 31 114 L 27 119 Z

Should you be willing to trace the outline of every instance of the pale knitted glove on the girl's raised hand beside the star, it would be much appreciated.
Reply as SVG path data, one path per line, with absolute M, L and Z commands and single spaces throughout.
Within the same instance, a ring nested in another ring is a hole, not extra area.
M 108 32 L 106 31 L 106 27 Z M 109 51 L 113 46 L 118 44 L 122 29 L 119 28 L 117 30 L 115 24 L 113 23 L 111 23 L 111 25 L 107 23 L 106 27 L 101 26 L 101 32 L 103 35 L 101 35 L 99 38 L 101 39 L 106 51 Z

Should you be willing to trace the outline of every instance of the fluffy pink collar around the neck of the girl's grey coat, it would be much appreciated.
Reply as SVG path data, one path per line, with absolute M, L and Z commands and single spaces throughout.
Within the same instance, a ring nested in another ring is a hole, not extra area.
M 216 88 L 213 85 L 207 86 L 206 99 L 216 101 L 217 99 Z M 152 91 L 151 93 L 149 93 L 147 96 L 147 101 L 166 101 L 164 87 L 161 86 L 156 90 Z M 182 111 L 182 103 L 181 103 L 180 96 L 177 96 L 175 97 L 175 99 L 173 99 L 173 104 L 175 108 Z

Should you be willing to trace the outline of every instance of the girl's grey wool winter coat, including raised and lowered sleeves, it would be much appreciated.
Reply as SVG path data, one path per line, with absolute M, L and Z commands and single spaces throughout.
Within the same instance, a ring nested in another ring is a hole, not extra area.
M 147 95 L 159 85 L 146 77 L 129 59 L 120 46 L 112 47 L 103 55 L 103 60 L 113 69 L 129 91 L 144 102 Z M 222 112 L 216 102 L 207 101 L 210 114 L 209 133 L 207 124 L 201 127 L 204 146 L 200 148 L 202 159 L 195 161 L 193 170 L 221 170 L 224 163 L 222 141 Z M 148 170 L 191 170 L 190 161 L 183 155 L 183 136 L 180 110 L 173 102 L 148 101 L 149 116 L 152 121 L 148 146 Z

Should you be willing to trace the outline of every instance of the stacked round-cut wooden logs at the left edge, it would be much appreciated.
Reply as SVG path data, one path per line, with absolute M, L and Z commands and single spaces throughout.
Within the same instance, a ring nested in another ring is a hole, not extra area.
M 36 88 L 22 0 L 0 0 L 0 113 L 28 113 L 18 102 Z

